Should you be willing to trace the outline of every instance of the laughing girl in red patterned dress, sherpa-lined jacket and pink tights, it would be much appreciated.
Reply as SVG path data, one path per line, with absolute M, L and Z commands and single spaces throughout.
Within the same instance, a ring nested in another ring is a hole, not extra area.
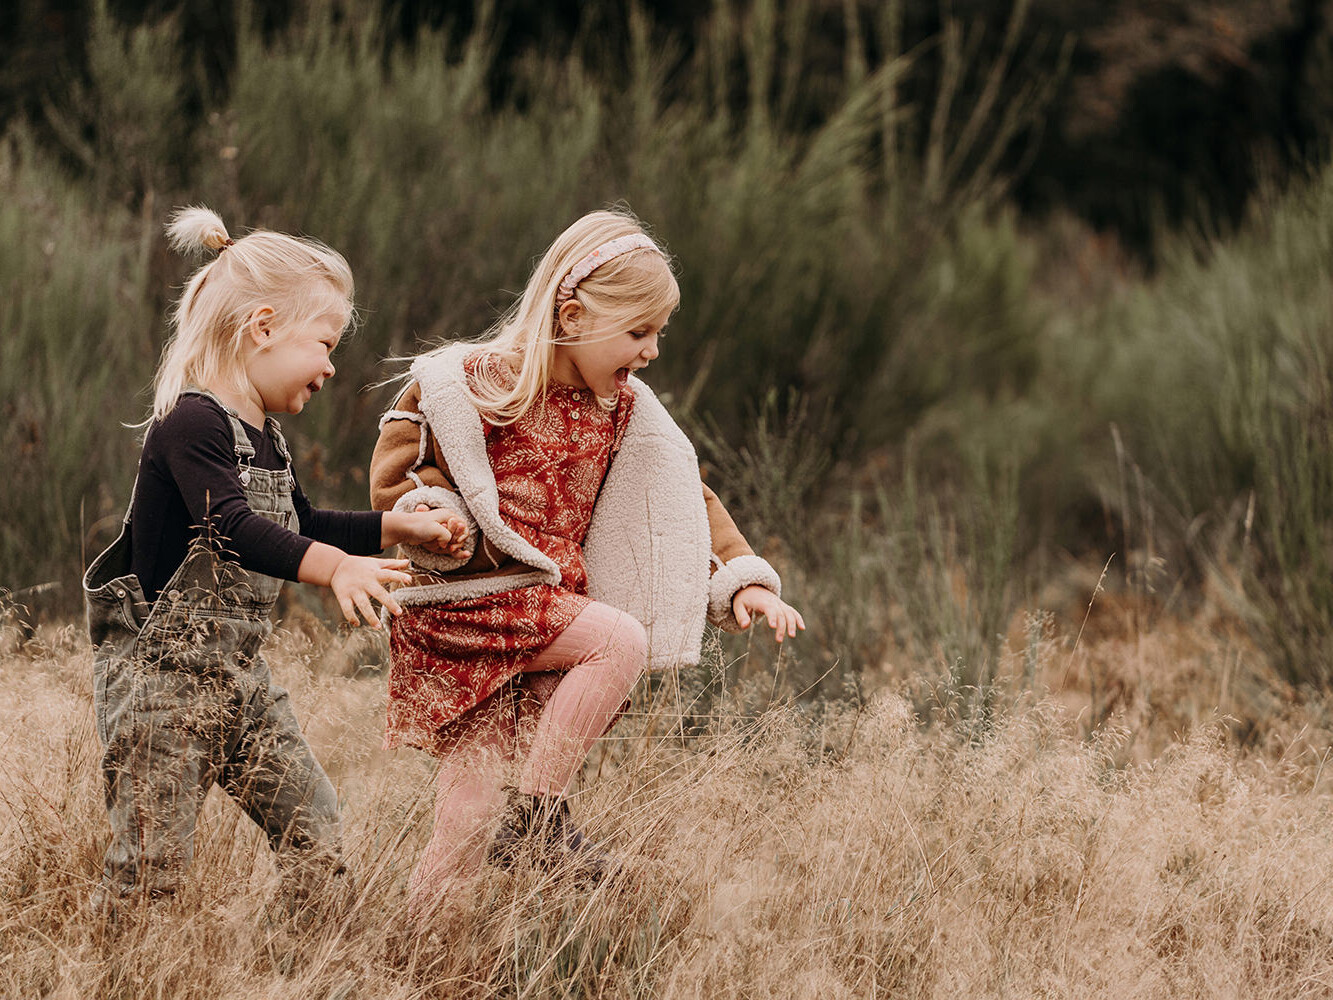
M 678 299 L 637 220 L 589 213 L 485 340 L 419 357 L 380 423 L 373 507 L 453 515 L 448 543 L 404 547 L 389 633 L 387 743 L 440 757 L 416 904 L 525 844 L 603 873 L 565 793 L 644 669 L 697 663 L 705 617 L 805 628 L 633 375 Z

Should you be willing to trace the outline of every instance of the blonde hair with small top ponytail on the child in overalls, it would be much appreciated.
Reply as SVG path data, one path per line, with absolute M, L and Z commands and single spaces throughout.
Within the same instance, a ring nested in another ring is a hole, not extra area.
M 189 385 L 244 389 L 244 327 L 259 307 L 273 309 L 277 331 L 328 312 L 355 319 L 352 269 L 323 243 L 267 229 L 233 241 L 217 213 L 201 205 L 176 209 L 167 239 L 179 253 L 217 256 L 191 275 L 172 308 L 172 333 L 153 376 L 155 419 L 167 416 Z

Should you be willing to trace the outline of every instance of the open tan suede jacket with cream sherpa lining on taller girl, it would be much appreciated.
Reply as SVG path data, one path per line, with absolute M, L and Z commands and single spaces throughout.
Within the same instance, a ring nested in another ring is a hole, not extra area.
M 481 417 L 464 393 L 463 361 L 476 349 L 457 344 L 419 357 L 415 383 L 380 421 L 372 505 L 449 508 L 473 533 L 465 563 L 401 547 L 415 575 L 395 591 L 403 604 L 560 583 L 559 567 L 500 516 Z M 643 623 L 651 668 L 694 664 L 705 617 L 734 631 L 736 592 L 760 584 L 780 595 L 781 581 L 701 483 L 694 448 L 652 389 L 635 377 L 629 384 L 635 405 L 584 540 L 588 593 Z

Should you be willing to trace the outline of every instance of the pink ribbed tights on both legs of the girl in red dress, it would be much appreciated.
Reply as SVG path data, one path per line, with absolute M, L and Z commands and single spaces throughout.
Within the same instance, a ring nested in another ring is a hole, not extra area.
M 592 603 L 527 668 L 527 695 L 475 720 L 440 760 L 435 827 L 409 880 L 431 903 L 485 860 L 505 784 L 564 795 L 648 661 L 644 627 Z

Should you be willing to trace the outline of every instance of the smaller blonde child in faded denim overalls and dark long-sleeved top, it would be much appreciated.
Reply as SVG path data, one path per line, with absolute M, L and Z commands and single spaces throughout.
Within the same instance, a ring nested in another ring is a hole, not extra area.
M 263 827 L 289 889 L 341 871 L 337 796 L 260 652 L 269 612 L 281 580 L 301 580 L 379 628 L 372 601 L 401 611 L 385 584 L 408 580 L 408 563 L 371 553 L 452 541 L 439 512 L 312 508 L 268 416 L 301 412 L 333 376 L 353 308 L 347 261 L 276 232 L 233 241 L 203 208 L 168 233 L 216 257 L 176 305 L 123 531 L 84 577 L 107 905 L 179 887 L 213 783 Z

